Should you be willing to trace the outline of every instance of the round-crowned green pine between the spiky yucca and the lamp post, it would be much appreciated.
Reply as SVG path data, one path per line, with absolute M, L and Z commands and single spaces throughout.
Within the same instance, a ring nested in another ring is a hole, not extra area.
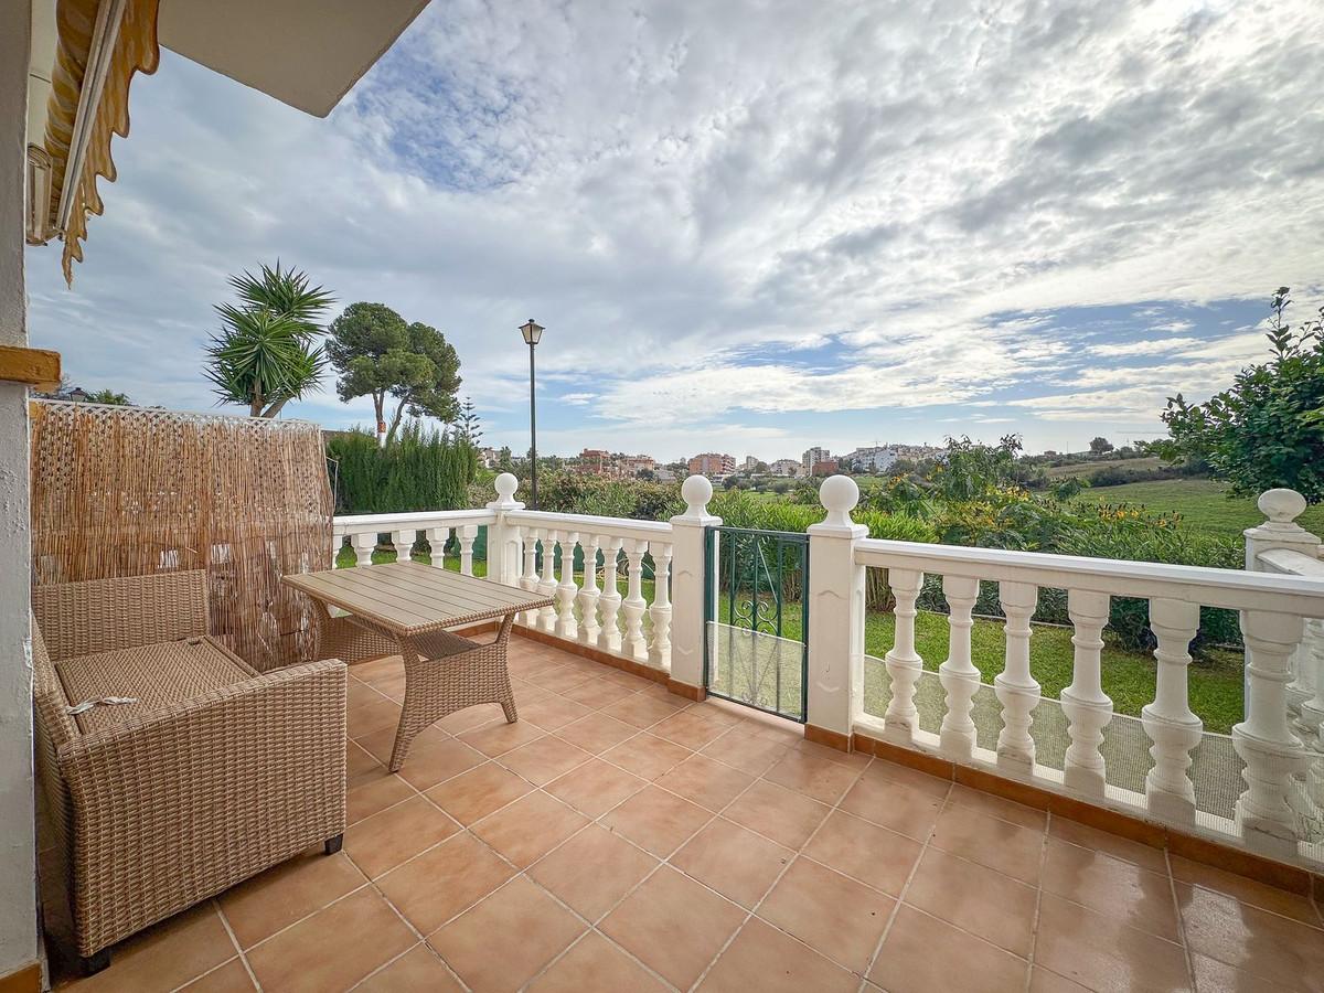
M 372 397 L 380 445 L 395 438 L 405 413 L 455 420 L 459 357 L 437 328 L 406 324 L 384 303 L 351 303 L 330 331 L 327 354 L 340 373 L 336 393 L 344 401 Z M 396 401 L 389 426 L 387 397 Z

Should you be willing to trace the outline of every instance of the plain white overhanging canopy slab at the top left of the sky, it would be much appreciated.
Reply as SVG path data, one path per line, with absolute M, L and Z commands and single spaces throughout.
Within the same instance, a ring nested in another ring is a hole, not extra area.
M 428 0 L 160 0 L 162 45 L 324 118 Z

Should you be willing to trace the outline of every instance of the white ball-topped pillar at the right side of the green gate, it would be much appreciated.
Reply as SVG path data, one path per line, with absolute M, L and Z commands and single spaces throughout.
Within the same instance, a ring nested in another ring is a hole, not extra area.
M 849 751 L 865 704 L 865 567 L 855 543 L 869 528 L 850 511 L 859 487 L 833 475 L 818 490 L 828 516 L 809 526 L 809 710 L 806 736 Z

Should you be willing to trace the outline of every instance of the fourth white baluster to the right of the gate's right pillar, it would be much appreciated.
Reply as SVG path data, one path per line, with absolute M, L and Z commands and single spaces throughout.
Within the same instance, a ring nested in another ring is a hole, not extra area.
M 1086 589 L 1067 591 L 1067 613 L 1075 632 L 1071 643 L 1071 686 L 1062 691 L 1062 712 L 1067 716 L 1067 745 L 1063 781 L 1068 789 L 1103 796 L 1107 768 L 1103 761 L 1103 730 L 1112 720 L 1112 700 L 1103 691 L 1103 628 L 1108 624 L 1111 597 Z

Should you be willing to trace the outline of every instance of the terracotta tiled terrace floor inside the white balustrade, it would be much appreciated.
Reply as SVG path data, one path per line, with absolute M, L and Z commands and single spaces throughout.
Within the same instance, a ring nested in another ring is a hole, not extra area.
M 1304 898 L 520 638 L 519 723 L 453 715 L 392 776 L 399 662 L 351 671 L 344 851 L 70 988 L 1324 989 Z

